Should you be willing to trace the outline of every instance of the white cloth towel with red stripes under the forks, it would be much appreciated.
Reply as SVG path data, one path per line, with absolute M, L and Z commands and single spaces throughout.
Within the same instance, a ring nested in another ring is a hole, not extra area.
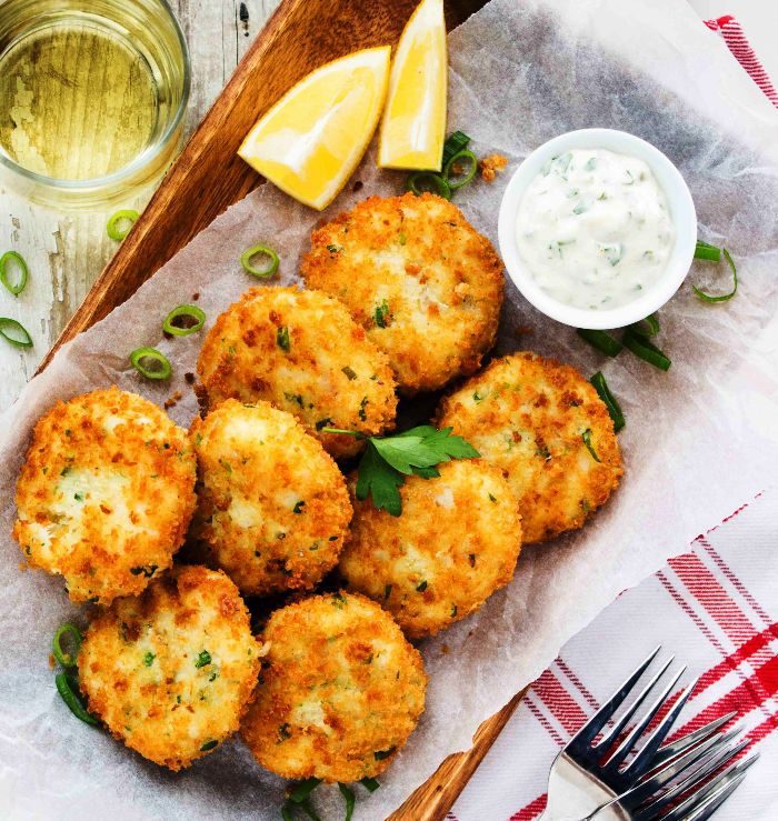
M 778 107 L 778 91 L 731 17 L 706 20 Z M 699 684 L 676 735 L 737 711 L 760 759 L 720 821 L 778 819 L 778 493 L 735 512 L 691 551 L 624 593 L 535 682 L 449 821 L 532 821 L 557 752 L 657 644 Z M 681 683 L 685 681 L 682 680 Z M 680 691 L 680 690 L 679 690 Z

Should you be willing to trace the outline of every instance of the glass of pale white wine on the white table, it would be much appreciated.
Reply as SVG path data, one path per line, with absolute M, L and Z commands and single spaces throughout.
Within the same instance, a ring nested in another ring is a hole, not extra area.
M 190 64 L 164 0 L 0 0 L 0 186 L 102 208 L 172 160 Z

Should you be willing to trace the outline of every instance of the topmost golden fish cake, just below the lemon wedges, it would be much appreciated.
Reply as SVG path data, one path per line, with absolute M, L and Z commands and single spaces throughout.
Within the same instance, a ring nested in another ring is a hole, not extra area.
M 370 197 L 313 231 L 301 271 L 347 306 L 407 394 L 473 373 L 495 343 L 502 263 L 440 197 Z

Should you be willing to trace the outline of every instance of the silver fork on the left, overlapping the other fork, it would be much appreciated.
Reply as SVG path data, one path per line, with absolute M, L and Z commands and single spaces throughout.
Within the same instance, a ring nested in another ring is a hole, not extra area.
M 712 721 L 706 727 L 685 735 L 682 739 L 678 739 L 672 744 L 660 749 L 661 743 L 667 738 L 684 704 L 686 704 L 691 691 L 697 684 L 697 680 L 695 679 L 676 699 L 672 707 L 670 707 L 667 714 L 661 719 L 632 760 L 626 767 L 624 765 L 625 760 L 634 750 L 637 741 L 646 731 L 646 728 L 661 708 L 670 701 L 670 694 L 686 670 L 686 668 L 681 668 L 671 678 L 669 683 L 661 689 L 660 694 L 654 700 L 626 738 L 616 747 L 612 753 L 607 755 L 627 727 L 627 723 L 632 719 L 670 667 L 674 660 L 672 658 L 662 664 L 660 670 L 642 688 L 629 709 L 616 721 L 604 738 L 595 743 L 596 738 L 600 734 L 608 721 L 614 718 L 619 707 L 636 688 L 639 679 L 651 664 L 659 650 L 659 647 L 654 650 L 557 755 L 549 773 L 548 803 L 546 811 L 541 815 L 541 821 L 588 819 L 592 818 L 604 807 L 608 808 L 610 818 L 629 819 L 629 811 L 626 808 L 619 807 L 617 802 L 620 795 L 625 795 L 628 791 L 632 790 L 645 775 L 657 770 L 659 765 L 668 768 L 678 764 L 682 760 L 690 767 L 709 752 L 710 747 L 705 747 L 705 742 L 711 739 L 732 718 L 734 713 Z M 686 758 L 684 758 L 685 755 Z M 677 774 L 680 774 L 680 770 Z M 652 792 L 656 792 L 657 789 L 660 789 L 668 781 L 660 782 L 654 788 Z M 646 800 L 650 794 L 646 793 L 641 801 Z M 606 818 L 605 813 L 602 818 Z M 641 821 L 645 820 L 641 819 Z M 676 819 L 672 819 L 672 821 L 676 821 Z M 695 819 L 695 821 L 698 821 L 698 819 Z

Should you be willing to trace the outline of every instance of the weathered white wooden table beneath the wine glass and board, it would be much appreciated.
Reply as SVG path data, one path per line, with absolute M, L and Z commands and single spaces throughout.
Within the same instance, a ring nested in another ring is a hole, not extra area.
M 192 94 L 184 136 L 206 113 L 279 2 L 245 0 L 248 21 L 243 23 L 241 0 L 171 0 L 192 61 Z M 690 2 L 702 17 L 738 17 L 768 72 L 778 78 L 778 4 L 766 0 Z M 150 191 L 142 192 L 124 207 L 141 210 L 149 196 Z M 114 252 L 117 243 L 106 236 L 109 216 L 52 213 L 0 189 L 0 253 L 18 251 L 30 269 L 30 281 L 21 297 L 16 299 L 0 289 L 0 316 L 18 319 L 34 339 L 34 348 L 28 351 L 0 344 L 0 411 L 17 398 Z

